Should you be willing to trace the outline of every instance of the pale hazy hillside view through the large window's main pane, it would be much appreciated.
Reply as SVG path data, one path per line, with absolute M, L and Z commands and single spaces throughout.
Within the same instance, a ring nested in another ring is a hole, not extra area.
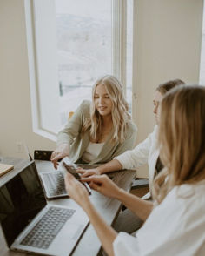
M 111 1 L 56 0 L 61 123 L 111 73 Z

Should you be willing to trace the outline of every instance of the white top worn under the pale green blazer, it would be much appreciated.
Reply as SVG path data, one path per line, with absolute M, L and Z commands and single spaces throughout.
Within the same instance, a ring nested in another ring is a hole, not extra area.
M 89 142 L 87 149 L 85 150 L 85 152 L 83 152 L 83 155 L 82 155 L 83 161 L 89 163 L 95 158 L 97 158 L 100 152 L 102 151 L 103 145 L 104 145 L 104 142 L 103 143 Z

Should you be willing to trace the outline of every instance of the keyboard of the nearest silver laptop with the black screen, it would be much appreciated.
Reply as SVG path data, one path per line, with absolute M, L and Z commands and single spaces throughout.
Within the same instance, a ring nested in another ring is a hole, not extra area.
M 72 209 L 50 207 L 49 211 L 23 239 L 21 245 L 47 249 L 74 212 L 76 211 Z

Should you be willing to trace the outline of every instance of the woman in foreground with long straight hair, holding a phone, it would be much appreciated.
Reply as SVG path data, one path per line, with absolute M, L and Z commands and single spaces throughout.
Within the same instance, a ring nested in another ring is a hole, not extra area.
M 158 143 L 164 168 L 155 178 L 154 204 L 122 191 L 106 175 L 83 179 L 146 220 L 136 237 L 117 234 L 98 214 L 84 186 L 66 176 L 69 196 L 87 212 L 109 255 L 205 255 L 204 120 L 205 87 L 180 86 L 162 99 Z

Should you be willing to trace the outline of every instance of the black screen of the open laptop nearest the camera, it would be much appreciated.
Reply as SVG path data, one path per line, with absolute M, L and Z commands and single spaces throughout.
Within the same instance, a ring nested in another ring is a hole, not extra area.
M 0 221 L 8 246 L 45 205 L 36 165 L 32 162 L 0 188 Z

